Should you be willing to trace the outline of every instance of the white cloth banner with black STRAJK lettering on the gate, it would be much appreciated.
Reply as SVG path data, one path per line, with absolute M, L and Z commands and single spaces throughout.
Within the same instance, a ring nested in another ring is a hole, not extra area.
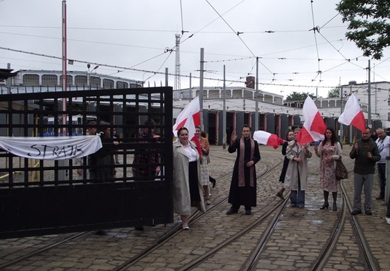
M 15 156 L 38 160 L 67 160 L 88 156 L 103 147 L 100 136 L 9 138 L 0 136 L 0 148 Z

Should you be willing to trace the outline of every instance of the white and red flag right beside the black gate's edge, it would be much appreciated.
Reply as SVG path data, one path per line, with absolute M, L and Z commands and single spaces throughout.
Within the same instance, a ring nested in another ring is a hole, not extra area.
M 181 127 L 188 129 L 188 139 L 197 145 L 197 150 L 202 156 L 200 141 L 196 136 L 195 127 L 200 125 L 200 103 L 199 97 L 195 97 L 189 104 L 184 107 L 176 118 L 175 125 L 172 127 L 173 134 L 177 136 L 177 131 Z

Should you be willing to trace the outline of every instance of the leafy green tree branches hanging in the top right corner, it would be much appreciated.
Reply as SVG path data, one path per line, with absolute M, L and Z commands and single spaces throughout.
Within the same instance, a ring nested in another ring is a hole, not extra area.
M 390 1 L 342 0 L 336 10 L 349 23 L 346 37 L 365 57 L 381 59 L 383 49 L 390 46 Z

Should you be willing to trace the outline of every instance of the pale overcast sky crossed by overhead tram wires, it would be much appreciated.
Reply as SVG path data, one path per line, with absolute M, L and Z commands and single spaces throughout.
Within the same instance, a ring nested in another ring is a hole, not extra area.
M 180 35 L 181 88 L 244 86 L 327 97 L 339 83 L 367 82 L 369 58 L 345 38 L 338 0 L 68 0 L 68 71 L 175 86 L 175 35 Z M 62 1 L 0 0 L 0 68 L 61 70 Z M 314 32 L 312 29 L 316 28 Z M 239 33 L 239 34 L 238 34 Z M 173 49 L 173 50 L 172 50 Z M 22 53 L 25 52 L 25 53 Z M 371 81 L 390 81 L 390 48 L 371 60 Z M 320 60 L 319 60 L 320 59 Z

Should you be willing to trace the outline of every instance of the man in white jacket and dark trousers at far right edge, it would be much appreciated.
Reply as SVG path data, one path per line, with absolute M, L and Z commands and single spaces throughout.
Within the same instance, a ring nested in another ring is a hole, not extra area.
M 375 141 L 375 143 L 378 146 L 378 151 L 380 154 L 380 160 L 378 161 L 380 194 L 376 199 L 384 200 L 384 187 L 386 186 L 386 156 L 390 156 L 390 136 L 387 136 L 382 128 L 376 129 L 376 133 L 378 135 L 378 139 Z

